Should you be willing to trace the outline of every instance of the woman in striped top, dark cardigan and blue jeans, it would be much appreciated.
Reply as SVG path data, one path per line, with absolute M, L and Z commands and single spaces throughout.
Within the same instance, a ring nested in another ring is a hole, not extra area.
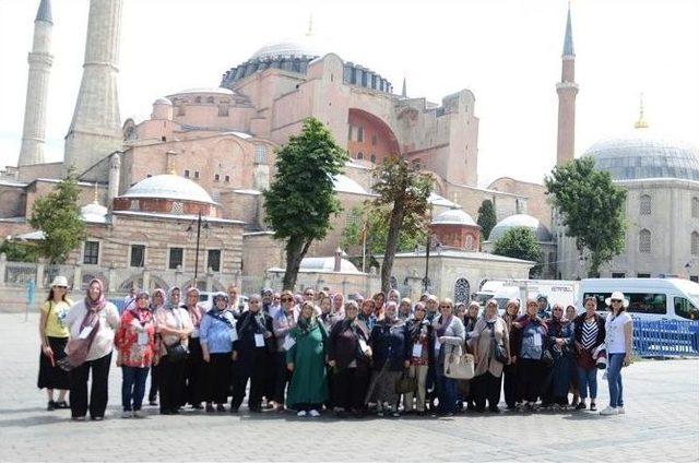
M 597 397 L 597 366 L 592 358 L 592 353 L 604 343 L 604 319 L 596 313 L 597 299 L 587 297 L 585 311 L 574 320 L 576 349 L 578 352 L 578 388 L 580 389 L 580 403 L 576 409 L 585 409 L 588 389 L 590 390 L 590 409 L 596 411 Z

